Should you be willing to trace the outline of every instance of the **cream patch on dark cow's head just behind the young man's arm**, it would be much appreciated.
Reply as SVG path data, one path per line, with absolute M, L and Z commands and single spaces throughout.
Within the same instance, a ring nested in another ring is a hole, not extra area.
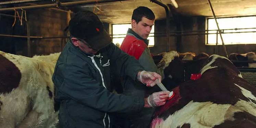
M 170 51 L 163 55 L 162 60 L 157 64 L 158 67 L 158 73 L 164 74 L 164 69 L 171 63 L 171 61 L 175 58 L 179 57 L 179 53 L 176 51 Z M 162 79 L 164 78 L 164 75 L 162 76 Z

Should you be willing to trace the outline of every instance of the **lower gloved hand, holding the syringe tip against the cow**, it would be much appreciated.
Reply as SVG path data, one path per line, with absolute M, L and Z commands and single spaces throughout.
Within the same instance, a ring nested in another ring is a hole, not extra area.
M 144 107 L 158 107 L 164 105 L 169 98 L 169 94 L 170 91 L 154 92 L 144 99 Z

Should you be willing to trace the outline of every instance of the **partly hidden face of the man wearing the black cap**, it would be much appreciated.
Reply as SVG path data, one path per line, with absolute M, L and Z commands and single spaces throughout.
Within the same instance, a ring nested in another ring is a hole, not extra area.
M 84 40 L 81 41 L 81 40 L 73 37 L 73 38 L 71 38 L 71 41 L 75 46 L 79 47 L 86 54 L 96 54 L 99 51 L 99 50 L 94 50 L 94 49 L 90 48 L 88 45 L 85 44 L 86 42 Z

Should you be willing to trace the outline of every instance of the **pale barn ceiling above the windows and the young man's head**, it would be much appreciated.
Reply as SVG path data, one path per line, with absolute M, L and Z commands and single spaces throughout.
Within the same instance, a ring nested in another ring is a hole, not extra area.
M 10 0 L 4 0 L 10 1 Z M 13 1 L 13 0 L 12 0 Z M 61 2 L 79 1 L 79 0 L 60 0 Z M 96 0 L 95 0 L 96 1 Z M 176 0 L 179 7 L 174 8 L 171 0 L 158 0 L 169 5 L 174 9 L 172 13 L 180 13 L 191 16 L 213 16 L 208 0 Z M 33 4 L 52 3 L 51 0 L 45 2 L 33 2 Z M 256 0 L 211 0 L 212 7 L 216 16 L 240 16 L 240 15 L 256 15 Z M 20 4 L 21 5 L 21 4 Z M 24 4 L 22 4 L 24 5 Z M 29 4 L 25 4 L 29 5 Z M 16 6 L 16 5 L 15 5 Z M 73 12 L 79 10 L 91 10 L 98 14 L 103 22 L 108 23 L 124 23 L 130 22 L 132 12 L 138 6 L 146 6 L 153 10 L 157 19 L 166 18 L 163 7 L 149 0 L 127 0 L 119 2 L 100 3 L 87 5 L 77 5 L 72 7 L 63 7 L 62 9 L 70 9 Z M 17 6 L 16 6 L 17 7 Z M 19 7 L 19 6 L 18 6 Z M 1 7 L 0 7 L 1 8 Z

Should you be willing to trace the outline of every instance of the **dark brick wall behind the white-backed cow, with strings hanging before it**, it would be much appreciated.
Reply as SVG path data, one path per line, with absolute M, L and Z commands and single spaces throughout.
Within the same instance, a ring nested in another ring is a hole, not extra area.
M 5 14 L 14 15 L 14 11 L 5 12 Z M 19 14 L 21 16 L 21 11 L 19 11 Z M 25 20 L 21 25 L 19 18 L 16 18 L 15 25 L 12 27 L 14 17 L 1 16 L 1 14 L 0 17 L 0 34 L 27 36 Z M 25 17 L 24 13 L 23 17 Z M 64 29 L 70 20 L 70 12 L 55 9 L 34 9 L 27 10 L 26 17 L 30 28 L 30 36 L 60 37 L 67 35 L 66 32 L 64 33 Z M 66 39 L 63 39 L 62 46 L 61 41 L 61 38 L 31 38 L 31 56 L 60 52 L 66 43 Z M 28 56 L 27 48 L 27 38 L 0 36 L 1 51 Z

